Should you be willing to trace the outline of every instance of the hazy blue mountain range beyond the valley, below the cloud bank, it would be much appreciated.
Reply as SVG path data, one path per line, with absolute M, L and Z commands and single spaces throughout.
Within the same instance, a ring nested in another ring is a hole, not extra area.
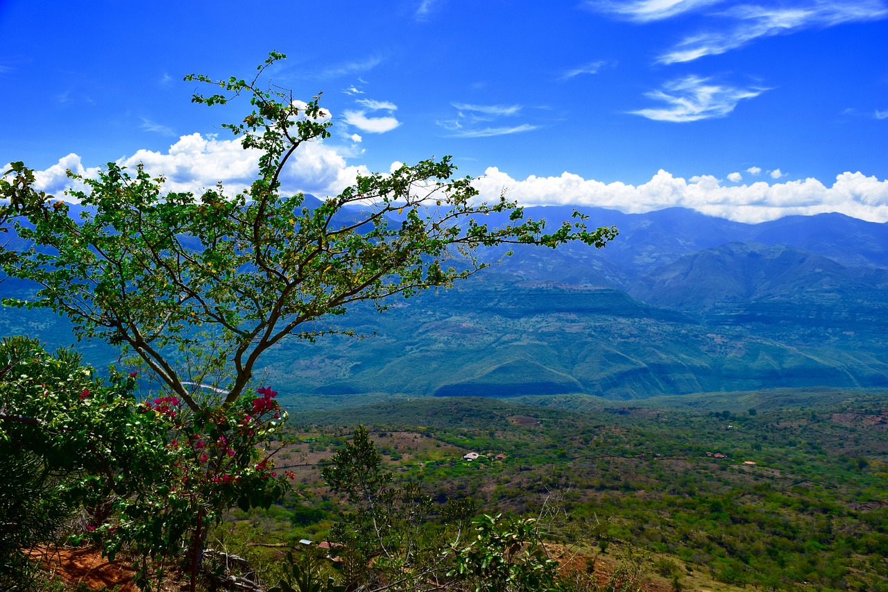
M 571 211 L 525 214 L 555 224 Z M 375 337 L 281 344 L 262 378 L 331 401 L 888 386 L 885 224 L 583 212 L 620 236 L 603 250 L 519 247 L 455 290 L 397 299 L 382 315 L 355 308 L 341 322 Z M 65 342 L 55 316 L 0 312 L 4 334 Z M 107 362 L 107 348 L 84 351 Z

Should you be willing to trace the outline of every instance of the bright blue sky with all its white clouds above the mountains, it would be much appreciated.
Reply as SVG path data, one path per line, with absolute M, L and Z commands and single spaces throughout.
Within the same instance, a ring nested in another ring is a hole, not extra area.
M 0 163 L 44 187 L 143 161 L 171 188 L 242 186 L 254 156 L 182 77 L 323 92 L 334 135 L 288 188 L 452 155 L 525 204 L 670 205 L 733 220 L 888 220 L 888 2 L 0 0 Z

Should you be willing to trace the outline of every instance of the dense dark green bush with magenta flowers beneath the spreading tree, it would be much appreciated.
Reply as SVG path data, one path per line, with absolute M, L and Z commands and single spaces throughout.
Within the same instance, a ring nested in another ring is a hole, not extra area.
M 46 519 L 85 508 L 83 538 L 101 542 L 111 559 L 124 545 L 160 561 L 186 542 L 194 551 L 223 509 L 268 507 L 287 487 L 270 463 L 273 451 L 258 448 L 282 425 L 274 391 L 191 412 L 173 396 L 139 402 L 134 374 L 115 373 L 104 384 L 79 356 L 50 356 L 33 340 L 4 339 L 0 361 L 0 441 L 16 451 L 4 456 L 3 470 L 28 460 L 40 468 L 36 483 L 6 489 L 10 508 Z M 46 500 L 33 497 L 35 485 L 49 492 Z

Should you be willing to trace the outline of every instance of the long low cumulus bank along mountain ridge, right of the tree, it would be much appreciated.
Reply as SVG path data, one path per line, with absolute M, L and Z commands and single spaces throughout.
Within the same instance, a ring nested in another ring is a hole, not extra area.
M 491 167 L 474 185 L 484 199 L 496 199 L 505 188 L 510 199 L 523 205 L 589 205 L 627 213 L 680 206 L 749 223 L 824 212 L 888 221 L 888 180 L 867 177 L 861 172 L 843 172 L 831 187 L 816 179 L 773 184 L 758 181 L 725 187 L 711 175 L 685 180 L 661 170 L 636 186 L 585 180 L 569 172 L 559 177 L 515 180 Z

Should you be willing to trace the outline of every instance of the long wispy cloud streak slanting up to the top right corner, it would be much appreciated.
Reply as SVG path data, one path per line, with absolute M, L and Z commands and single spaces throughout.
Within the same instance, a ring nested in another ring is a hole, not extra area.
M 787 35 L 805 28 L 834 27 L 846 22 L 880 20 L 888 17 L 888 7 L 876 0 L 815 0 L 795 6 L 741 4 L 709 16 L 732 23 L 727 28 L 686 36 L 657 61 L 662 64 L 693 61 L 738 49 L 762 37 Z

